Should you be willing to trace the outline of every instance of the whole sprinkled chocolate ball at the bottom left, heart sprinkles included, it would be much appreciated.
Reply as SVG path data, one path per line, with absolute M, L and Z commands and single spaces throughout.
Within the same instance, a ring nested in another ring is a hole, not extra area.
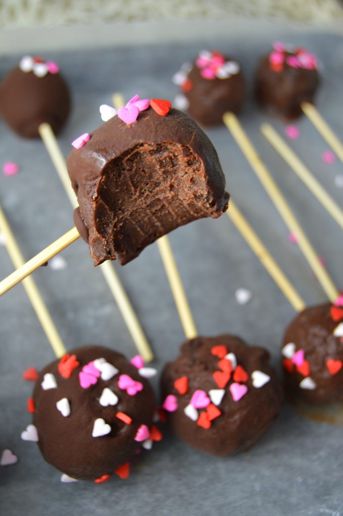
M 151 386 L 116 351 L 100 346 L 70 351 L 42 370 L 32 397 L 41 453 L 71 478 L 108 478 L 127 468 L 149 441 Z

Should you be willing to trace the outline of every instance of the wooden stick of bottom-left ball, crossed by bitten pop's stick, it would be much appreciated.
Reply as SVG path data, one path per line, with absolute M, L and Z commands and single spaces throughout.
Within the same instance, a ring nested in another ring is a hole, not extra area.
M 14 267 L 21 267 L 24 263 L 23 255 L 21 254 L 18 244 L 15 241 L 14 235 L 11 231 L 11 228 L 9 227 L 1 206 L 0 230 L 4 234 L 5 246 Z M 40 324 L 42 325 L 45 335 L 47 336 L 47 339 L 56 354 L 56 357 L 62 357 L 66 353 L 66 347 L 64 346 L 57 328 L 54 325 L 54 321 L 52 320 L 50 313 L 48 312 L 46 305 L 38 291 L 36 283 L 32 278 L 29 277 L 23 280 L 23 286 L 29 300 L 31 301 L 32 307 L 37 314 Z

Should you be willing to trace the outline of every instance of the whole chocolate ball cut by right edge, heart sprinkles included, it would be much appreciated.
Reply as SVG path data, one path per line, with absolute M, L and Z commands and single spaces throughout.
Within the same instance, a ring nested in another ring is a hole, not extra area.
M 343 306 L 307 308 L 288 326 L 283 342 L 287 394 L 309 403 L 343 402 Z

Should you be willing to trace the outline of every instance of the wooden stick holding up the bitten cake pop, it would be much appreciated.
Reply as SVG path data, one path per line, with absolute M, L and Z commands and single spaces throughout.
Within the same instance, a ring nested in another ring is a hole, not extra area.
M 17 270 L 12 272 L 7 278 L 0 283 L 0 296 L 9 291 L 10 288 L 14 287 L 24 278 L 29 276 L 38 267 L 44 265 L 48 260 L 51 260 L 53 256 L 63 251 L 66 247 L 70 246 L 75 240 L 79 238 L 79 233 L 76 228 L 69 230 L 63 236 L 55 240 L 50 246 L 47 246 L 43 251 L 36 254 L 31 260 L 21 265 Z

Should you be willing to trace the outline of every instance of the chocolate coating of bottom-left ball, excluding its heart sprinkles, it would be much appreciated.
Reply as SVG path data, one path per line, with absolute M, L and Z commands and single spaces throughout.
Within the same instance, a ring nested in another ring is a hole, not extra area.
M 113 473 L 119 466 L 130 461 L 141 447 L 135 441 L 140 425 L 150 427 L 155 404 L 154 395 L 148 381 L 138 374 L 138 370 L 125 357 L 105 347 L 85 346 L 69 352 L 75 354 L 80 365 L 70 378 L 63 378 L 58 371 L 59 360 L 47 365 L 39 375 L 33 398 L 36 412 L 33 423 L 37 427 L 38 446 L 44 459 L 63 473 L 76 479 L 94 480 L 104 474 Z M 79 372 L 82 367 L 95 359 L 105 358 L 119 369 L 110 380 L 97 379 L 87 389 L 81 388 Z M 57 381 L 57 389 L 43 390 L 41 382 L 44 374 L 52 373 Z M 130 396 L 119 389 L 118 378 L 129 375 L 143 384 L 143 390 Z M 103 407 L 99 398 L 107 387 L 119 398 L 116 406 Z M 56 408 L 56 402 L 66 397 L 71 413 L 67 417 Z M 132 417 L 128 425 L 116 417 L 124 412 Z M 92 437 L 94 421 L 103 418 L 111 426 L 111 432 L 102 437 Z

